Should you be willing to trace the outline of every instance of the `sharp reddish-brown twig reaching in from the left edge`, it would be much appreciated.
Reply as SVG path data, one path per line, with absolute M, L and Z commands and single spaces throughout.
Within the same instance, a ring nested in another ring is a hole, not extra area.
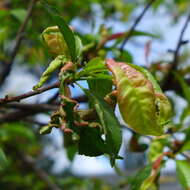
M 56 82 L 52 85 L 39 88 L 35 91 L 29 91 L 29 92 L 24 93 L 24 94 L 19 95 L 19 96 L 14 96 L 14 97 L 5 96 L 5 98 L 0 98 L 0 105 L 6 104 L 9 102 L 16 102 L 16 101 L 18 102 L 22 99 L 25 99 L 25 98 L 28 98 L 28 97 L 31 97 L 31 96 L 34 96 L 37 94 L 41 94 L 42 92 L 45 92 L 45 91 L 53 89 L 53 88 L 58 88 L 58 87 L 59 87 L 59 82 Z

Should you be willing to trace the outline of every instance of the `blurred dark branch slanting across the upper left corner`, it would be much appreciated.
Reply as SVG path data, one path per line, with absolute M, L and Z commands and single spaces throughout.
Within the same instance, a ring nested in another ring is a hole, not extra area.
M 26 26 L 28 24 L 28 21 L 32 15 L 32 11 L 34 8 L 35 3 L 37 2 L 37 0 L 31 0 L 29 5 L 28 5 L 28 10 L 27 10 L 27 15 L 24 19 L 24 22 L 21 24 L 18 32 L 17 32 L 17 36 L 16 36 L 16 42 L 15 42 L 15 46 L 13 48 L 13 51 L 11 53 L 10 60 L 8 62 L 5 63 L 4 68 L 2 69 L 1 75 L 0 75 L 0 85 L 3 84 L 3 82 L 5 81 L 6 77 L 9 75 L 10 71 L 11 71 L 11 67 L 14 63 L 14 59 L 19 51 L 19 47 L 21 45 L 22 39 L 23 39 L 23 32 L 26 29 Z

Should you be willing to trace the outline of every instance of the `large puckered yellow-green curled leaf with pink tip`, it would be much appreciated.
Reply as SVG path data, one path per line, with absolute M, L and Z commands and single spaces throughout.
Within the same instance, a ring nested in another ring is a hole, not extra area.
M 123 120 L 140 134 L 162 135 L 171 108 L 153 76 L 144 69 L 112 59 L 106 64 L 114 75 Z

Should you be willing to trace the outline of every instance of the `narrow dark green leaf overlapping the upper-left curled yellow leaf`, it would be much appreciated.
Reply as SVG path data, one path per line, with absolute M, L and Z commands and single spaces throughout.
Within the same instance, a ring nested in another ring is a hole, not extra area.
M 77 49 L 76 49 L 75 36 L 74 36 L 72 30 L 66 24 L 64 19 L 60 16 L 58 10 L 55 7 L 47 4 L 46 1 L 42 1 L 42 4 L 45 7 L 45 9 L 48 11 L 50 16 L 52 17 L 53 21 L 59 27 L 60 32 L 62 33 L 62 35 L 65 39 L 65 42 L 67 43 L 67 46 L 69 48 L 71 59 L 72 59 L 72 61 L 75 62 L 77 60 Z M 77 45 L 77 46 L 79 46 L 79 45 Z

